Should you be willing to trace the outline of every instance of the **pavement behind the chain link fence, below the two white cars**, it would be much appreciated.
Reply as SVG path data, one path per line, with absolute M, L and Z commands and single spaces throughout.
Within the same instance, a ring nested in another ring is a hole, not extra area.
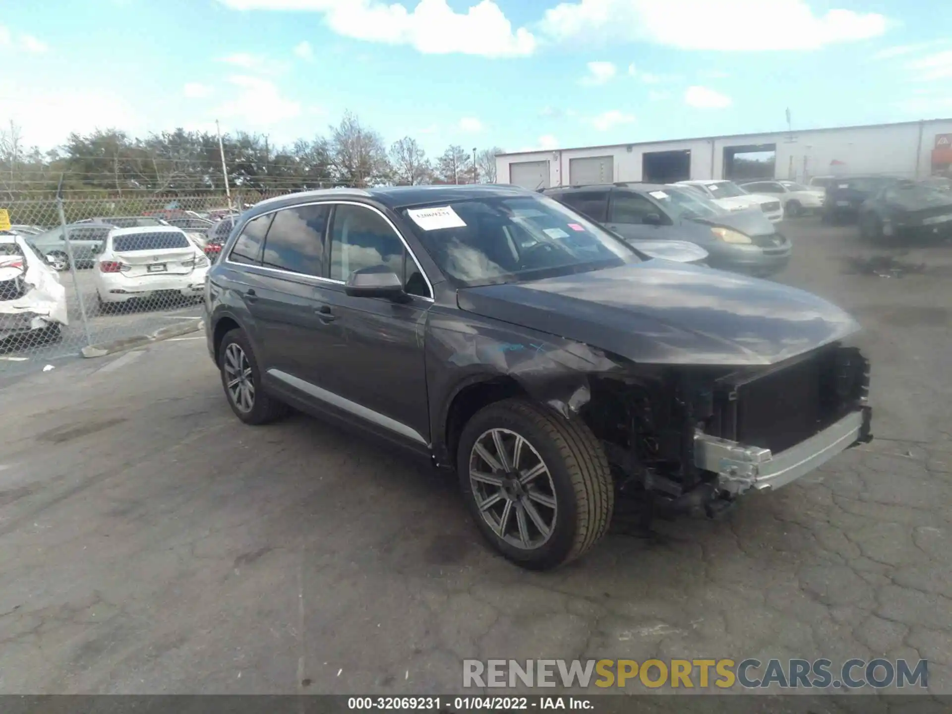
M 66 288 L 69 325 L 62 328 L 62 339 L 57 343 L 30 342 L 26 346 L 0 349 L 0 377 L 13 371 L 23 373 L 39 365 L 42 367 L 57 358 L 75 359 L 79 350 L 88 344 L 109 342 L 123 337 L 148 334 L 174 321 L 201 315 L 202 307 L 194 299 L 155 300 L 149 303 L 129 304 L 107 313 L 99 308 L 92 270 L 76 271 L 76 285 L 86 310 L 89 340 L 83 325 L 82 309 L 72 274 L 60 273 L 60 282 Z

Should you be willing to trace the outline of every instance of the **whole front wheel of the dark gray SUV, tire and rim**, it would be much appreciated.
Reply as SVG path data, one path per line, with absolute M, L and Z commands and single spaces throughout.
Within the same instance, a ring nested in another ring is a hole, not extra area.
M 463 429 L 457 469 L 486 540 L 526 568 L 575 560 L 611 520 L 614 489 L 598 440 L 581 421 L 526 400 L 477 412 Z

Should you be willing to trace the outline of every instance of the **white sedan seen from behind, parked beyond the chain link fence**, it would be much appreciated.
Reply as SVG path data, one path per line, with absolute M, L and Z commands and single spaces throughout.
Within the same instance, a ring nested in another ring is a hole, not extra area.
M 162 295 L 200 297 L 208 258 L 181 228 L 115 228 L 96 256 L 100 307 Z

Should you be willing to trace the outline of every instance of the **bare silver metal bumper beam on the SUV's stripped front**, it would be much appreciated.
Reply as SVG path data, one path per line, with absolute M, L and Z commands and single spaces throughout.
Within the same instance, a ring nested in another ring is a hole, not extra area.
M 717 474 L 717 486 L 732 496 L 750 488 L 786 486 L 840 452 L 872 439 L 870 407 L 851 411 L 843 419 L 800 444 L 774 454 L 760 446 L 745 446 L 704 433 L 694 437 L 694 464 Z

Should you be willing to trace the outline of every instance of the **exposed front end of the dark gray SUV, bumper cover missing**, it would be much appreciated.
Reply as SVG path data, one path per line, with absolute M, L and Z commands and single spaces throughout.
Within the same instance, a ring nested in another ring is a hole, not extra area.
M 578 413 L 649 513 L 713 517 L 872 438 L 869 363 L 836 343 L 770 367 L 631 364 L 588 379 Z

